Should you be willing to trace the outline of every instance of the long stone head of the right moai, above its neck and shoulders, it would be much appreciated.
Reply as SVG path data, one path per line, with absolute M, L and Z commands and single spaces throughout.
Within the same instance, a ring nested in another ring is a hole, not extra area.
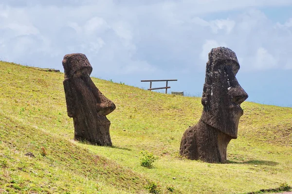
M 212 49 L 201 100 L 204 106 L 201 120 L 231 138 L 237 138 L 238 122 L 243 114 L 240 104 L 248 97 L 235 77 L 238 70 L 239 63 L 232 50 Z

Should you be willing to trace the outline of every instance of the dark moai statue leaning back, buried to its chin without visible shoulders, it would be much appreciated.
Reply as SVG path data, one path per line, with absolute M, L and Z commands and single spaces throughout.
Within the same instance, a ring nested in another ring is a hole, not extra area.
M 62 63 L 67 113 L 73 117 L 74 139 L 111 146 L 110 120 L 106 115 L 115 109 L 115 104 L 92 82 L 92 67 L 84 54 L 65 55 Z

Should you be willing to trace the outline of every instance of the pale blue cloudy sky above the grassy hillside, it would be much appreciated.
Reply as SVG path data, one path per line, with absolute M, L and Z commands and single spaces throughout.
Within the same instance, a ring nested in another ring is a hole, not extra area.
M 247 101 L 292 107 L 292 0 L 0 1 L 0 60 L 22 65 L 63 72 L 64 55 L 83 53 L 92 77 L 178 79 L 169 93 L 201 97 L 219 46 L 237 54 Z

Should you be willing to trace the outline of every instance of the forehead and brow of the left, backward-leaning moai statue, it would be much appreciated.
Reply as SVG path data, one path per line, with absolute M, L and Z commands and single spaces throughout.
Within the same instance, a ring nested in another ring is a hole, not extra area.
M 65 55 L 62 61 L 65 78 L 90 76 L 92 67 L 87 57 L 82 53 Z

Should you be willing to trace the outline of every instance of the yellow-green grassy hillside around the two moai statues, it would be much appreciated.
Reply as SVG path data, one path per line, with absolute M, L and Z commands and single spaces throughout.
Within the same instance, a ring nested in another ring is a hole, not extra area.
M 201 98 L 92 78 L 117 107 L 107 116 L 114 146 L 93 146 L 72 140 L 63 76 L 0 62 L 0 193 L 147 193 L 151 181 L 182 194 L 292 185 L 292 108 L 244 102 L 228 164 L 208 164 L 178 154 Z M 140 165 L 141 151 L 158 156 L 154 168 Z

